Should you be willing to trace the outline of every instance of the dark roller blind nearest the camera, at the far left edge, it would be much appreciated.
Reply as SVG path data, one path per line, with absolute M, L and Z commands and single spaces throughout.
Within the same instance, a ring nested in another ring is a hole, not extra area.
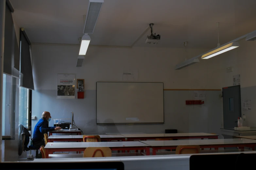
M 11 10 L 6 5 L 5 11 L 5 46 L 4 46 L 4 68 L 5 74 L 19 78 L 20 52 L 12 20 Z

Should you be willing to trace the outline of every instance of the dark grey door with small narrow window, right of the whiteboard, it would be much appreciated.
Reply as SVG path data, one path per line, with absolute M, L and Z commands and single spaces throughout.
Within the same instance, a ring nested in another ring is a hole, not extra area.
M 222 88 L 224 129 L 237 127 L 241 117 L 240 85 Z

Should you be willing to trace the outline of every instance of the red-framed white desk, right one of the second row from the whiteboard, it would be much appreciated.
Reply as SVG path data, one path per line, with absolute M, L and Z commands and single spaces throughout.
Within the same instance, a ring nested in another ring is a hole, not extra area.
M 200 145 L 200 148 L 225 148 L 225 147 L 244 147 L 252 148 L 256 146 L 256 140 L 252 139 L 213 139 L 213 140 L 158 140 L 158 141 L 140 141 L 152 148 L 152 154 L 156 155 L 157 149 L 176 149 L 179 145 Z

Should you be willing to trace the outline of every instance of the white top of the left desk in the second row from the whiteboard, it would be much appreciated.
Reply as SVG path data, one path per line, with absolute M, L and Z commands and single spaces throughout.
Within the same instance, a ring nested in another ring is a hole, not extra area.
M 255 141 L 256 142 L 256 141 Z M 139 141 L 131 142 L 47 142 L 44 149 L 88 148 L 88 147 L 147 147 Z

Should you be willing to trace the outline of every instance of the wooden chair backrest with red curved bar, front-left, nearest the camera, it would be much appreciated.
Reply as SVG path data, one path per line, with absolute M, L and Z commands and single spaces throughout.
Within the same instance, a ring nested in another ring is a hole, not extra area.
M 109 147 L 88 147 L 84 150 L 84 158 L 91 157 L 111 157 L 111 149 Z

